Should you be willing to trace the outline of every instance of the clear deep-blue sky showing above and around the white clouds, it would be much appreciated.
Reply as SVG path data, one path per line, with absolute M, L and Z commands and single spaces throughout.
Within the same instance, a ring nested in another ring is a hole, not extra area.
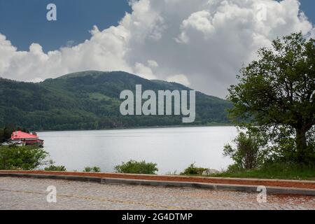
M 300 0 L 309 20 L 315 22 L 315 1 Z M 57 5 L 57 22 L 45 20 L 48 3 Z M 93 25 L 103 30 L 117 25 L 131 8 L 127 0 L 0 0 L 0 33 L 18 50 L 40 43 L 43 50 L 56 50 L 90 38 Z M 70 41 L 70 42 L 69 42 Z

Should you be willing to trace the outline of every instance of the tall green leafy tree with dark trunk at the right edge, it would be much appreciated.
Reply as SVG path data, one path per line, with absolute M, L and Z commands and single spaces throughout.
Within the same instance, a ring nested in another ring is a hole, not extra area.
M 315 125 L 314 39 L 301 33 L 276 38 L 272 48 L 260 49 L 258 56 L 229 89 L 228 99 L 234 103 L 230 115 L 237 125 L 269 139 L 281 139 L 285 132 L 285 138 L 294 136 L 296 162 L 309 163 L 315 151 L 307 139 Z

